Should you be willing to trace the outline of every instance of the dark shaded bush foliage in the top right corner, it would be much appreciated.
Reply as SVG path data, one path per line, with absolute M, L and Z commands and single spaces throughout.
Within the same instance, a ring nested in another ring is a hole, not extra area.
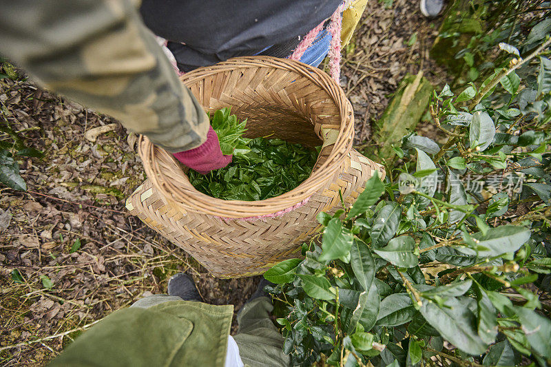
M 433 56 L 449 67 L 456 82 L 488 76 L 499 65 L 500 44 L 519 45 L 521 53 L 536 48 L 551 32 L 551 3 L 545 0 L 455 0 L 446 12 Z M 462 60 L 464 63 L 457 62 Z

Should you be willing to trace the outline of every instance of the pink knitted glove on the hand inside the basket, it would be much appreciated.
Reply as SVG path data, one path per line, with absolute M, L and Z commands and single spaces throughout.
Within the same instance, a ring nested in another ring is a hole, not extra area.
M 231 162 L 233 156 L 225 156 L 220 150 L 218 135 L 212 127 L 209 127 L 207 141 L 199 147 L 174 153 L 177 160 L 186 167 L 198 171 L 200 174 L 208 174 L 213 169 L 224 168 Z

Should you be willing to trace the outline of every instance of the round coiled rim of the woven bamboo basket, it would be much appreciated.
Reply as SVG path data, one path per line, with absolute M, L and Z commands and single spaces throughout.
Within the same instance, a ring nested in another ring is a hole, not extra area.
M 251 67 L 274 67 L 280 70 L 294 72 L 309 79 L 311 83 L 324 90 L 335 103 L 340 113 L 340 127 L 337 140 L 332 145 L 331 152 L 325 162 L 315 169 L 309 178 L 306 178 L 298 187 L 287 191 L 280 196 L 258 201 L 223 200 L 213 198 L 195 189 L 187 175 L 181 169 L 174 156 L 164 149 L 156 147 L 151 141 L 141 136 L 138 143 L 138 154 L 141 156 L 145 173 L 152 181 L 152 185 L 160 193 L 183 211 L 198 211 L 221 218 L 250 218 L 267 216 L 293 207 L 298 202 L 307 200 L 327 180 L 342 168 L 346 156 L 352 147 L 354 136 L 354 117 L 351 103 L 344 91 L 333 79 L 318 69 L 299 61 L 278 59 L 271 56 L 241 56 L 229 59 L 222 63 L 208 67 L 200 67 L 183 76 L 180 81 L 191 85 L 214 74 Z M 204 102 L 204 101 L 203 101 Z M 329 145 L 331 147 L 331 145 Z M 163 167 L 161 167 L 163 166 Z M 172 177 L 167 174 L 171 173 Z M 174 183 L 174 176 L 185 176 L 183 181 Z

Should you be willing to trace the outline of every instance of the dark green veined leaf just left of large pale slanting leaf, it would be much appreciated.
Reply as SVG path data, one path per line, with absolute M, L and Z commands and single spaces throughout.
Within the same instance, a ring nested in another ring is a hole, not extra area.
M 379 316 L 377 316 L 377 325 L 380 326 L 399 326 L 410 322 L 413 315 L 417 313 L 411 297 L 406 293 L 394 293 L 385 297 L 381 301 Z

